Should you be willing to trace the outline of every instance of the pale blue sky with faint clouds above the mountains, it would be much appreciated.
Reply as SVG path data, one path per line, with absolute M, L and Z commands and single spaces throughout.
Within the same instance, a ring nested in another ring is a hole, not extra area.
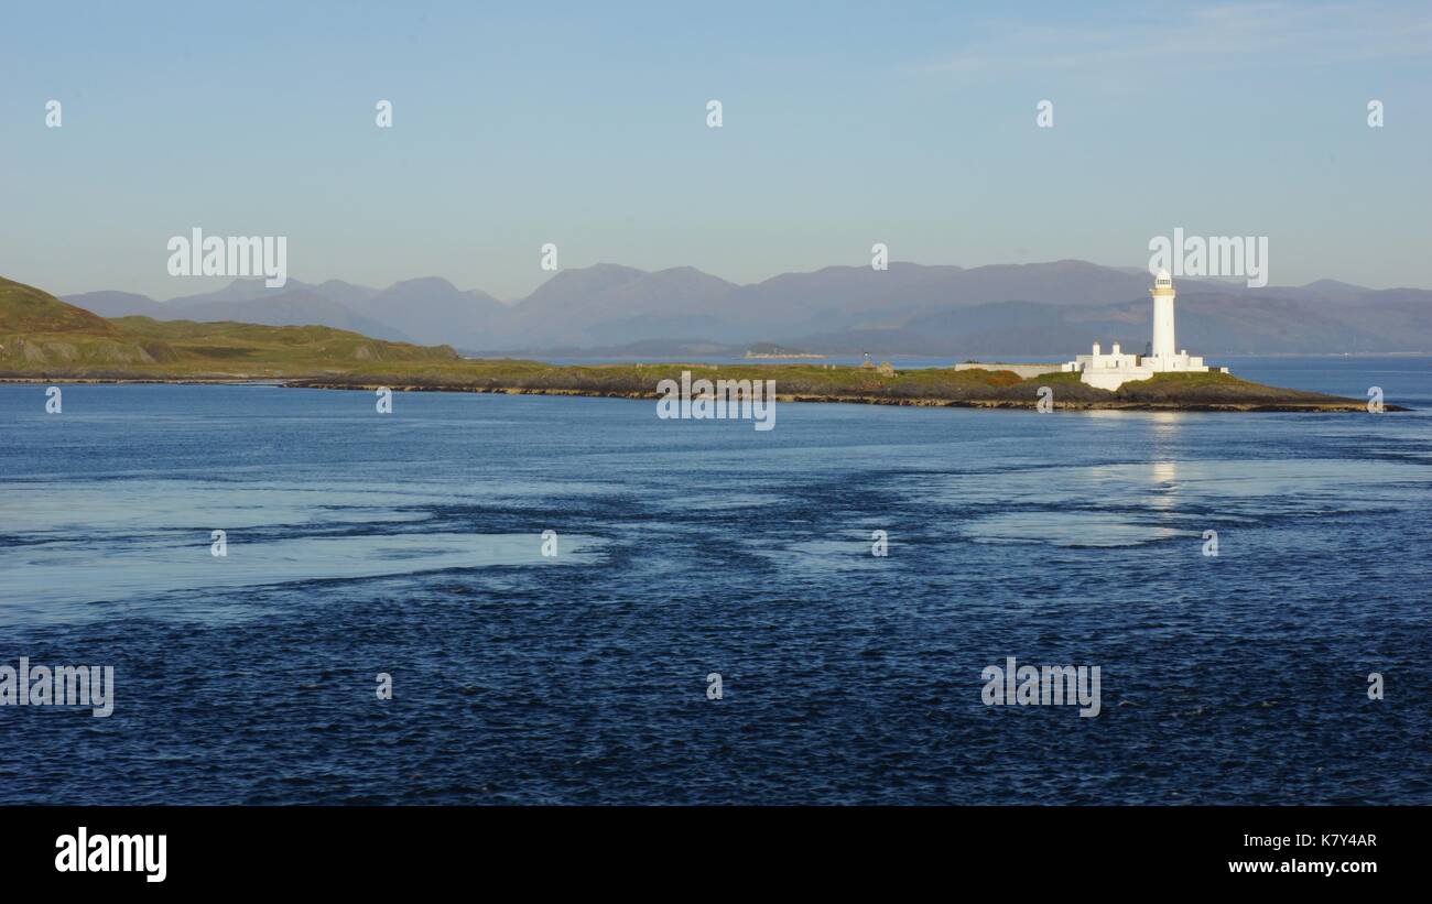
M 548 242 L 748 283 L 875 242 L 1143 267 L 1179 226 L 1432 288 L 1425 0 L 0 4 L 0 276 L 57 295 L 229 282 L 169 275 L 193 227 L 504 299 Z

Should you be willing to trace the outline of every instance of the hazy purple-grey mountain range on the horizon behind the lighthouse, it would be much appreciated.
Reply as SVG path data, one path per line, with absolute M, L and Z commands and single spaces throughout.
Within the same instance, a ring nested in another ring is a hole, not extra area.
M 64 300 L 105 318 L 322 325 L 468 353 L 640 355 L 742 352 L 778 342 L 806 352 L 957 356 L 1074 355 L 1090 343 L 1143 350 L 1150 277 L 1083 260 L 979 267 L 832 266 L 736 285 L 693 267 L 610 263 L 561 270 L 503 303 L 441 277 L 387 289 L 239 279 L 158 302 L 127 292 Z M 1179 345 L 1199 355 L 1428 352 L 1432 292 L 1330 279 L 1249 289 L 1180 279 Z

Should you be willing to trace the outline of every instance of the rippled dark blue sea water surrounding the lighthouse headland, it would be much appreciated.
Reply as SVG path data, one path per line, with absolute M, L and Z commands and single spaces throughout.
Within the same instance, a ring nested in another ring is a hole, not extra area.
M 1233 363 L 1423 411 L 0 386 L 0 802 L 1432 802 L 1432 359 Z

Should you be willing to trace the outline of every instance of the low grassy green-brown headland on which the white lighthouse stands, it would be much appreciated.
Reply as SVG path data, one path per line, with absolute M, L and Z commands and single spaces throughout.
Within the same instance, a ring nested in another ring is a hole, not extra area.
M 448 346 L 369 339 L 326 326 L 256 326 L 117 318 L 106 320 L 32 286 L 0 279 L 0 380 L 238 382 L 435 392 L 656 398 L 657 383 L 776 382 L 780 401 L 1032 408 L 1041 386 L 1060 409 L 1366 411 L 1366 403 L 1262 386 L 1226 373 L 1164 373 L 1094 389 L 1075 373 L 1021 379 L 1008 370 L 876 370 L 816 365 L 593 365 L 464 359 Z M 1390 411 L 1400 411 L 1389 405 Z

